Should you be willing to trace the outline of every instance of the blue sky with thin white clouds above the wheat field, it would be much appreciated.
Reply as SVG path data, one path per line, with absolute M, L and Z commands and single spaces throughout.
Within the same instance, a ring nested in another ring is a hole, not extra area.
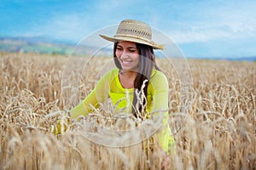
M 0 0 L 0 37 L 79 42 L 91 32 L 143 20 L 187 57 L 256 56 L 254 0 Z

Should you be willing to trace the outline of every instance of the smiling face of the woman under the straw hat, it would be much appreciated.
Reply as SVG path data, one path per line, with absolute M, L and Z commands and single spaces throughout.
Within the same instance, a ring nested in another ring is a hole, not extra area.
M 120 41 L 117 43 L 115 55 L 124 71 L 137 71 L 139 54 L 135 42 Z

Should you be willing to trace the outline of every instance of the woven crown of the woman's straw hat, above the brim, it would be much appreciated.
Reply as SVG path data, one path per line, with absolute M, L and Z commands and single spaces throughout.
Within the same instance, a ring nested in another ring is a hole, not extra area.
M 131 37 L 143 37 L 151 41 L 151 27 L 138 20 L 122 20 L 119 24 L 115 37 L 128 35 Z

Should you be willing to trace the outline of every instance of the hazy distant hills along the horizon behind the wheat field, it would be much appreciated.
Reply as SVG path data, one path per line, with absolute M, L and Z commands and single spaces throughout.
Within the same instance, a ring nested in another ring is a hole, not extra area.
M 82 46 L 76 47 L 74 42 L 53 40 L 49 37 L 0 37 L 0 52 L 38 53 L 38 54 L 93 54 L 97 48 Z M 73 49 L 75 48 L 75 52 Z M 102 54 L 111 55 L 110 49 L 101 49 Z M 256 56 L 247 57 L 219 57 L 219 58 L 189 58 L 189 59 L 224 59 L 237 61 L 256 61 Z

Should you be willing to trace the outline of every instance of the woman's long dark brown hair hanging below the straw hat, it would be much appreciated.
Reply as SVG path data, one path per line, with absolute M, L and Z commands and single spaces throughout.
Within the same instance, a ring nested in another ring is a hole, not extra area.
M 115 55 L 118 42 L 114 42 L 113 45 L 113 59 L 115 65 L 122 70 L 122 66 L 119 63 L 119 59 Z M 154 50 L 151 46 L 136 43 L 139 57 L 139 65 L 137 77 L 135 78 L 134 84 L 134 94 L 132 101 L 131 112 L 136 117 L 143 118 L 145 112 L 147 111 L 147 93 L 148 93 L 148 82 L 151 77 L 153 69 L 160 70 L 155 63 Z M 137 95 L 139 94 L 139 95 Z

